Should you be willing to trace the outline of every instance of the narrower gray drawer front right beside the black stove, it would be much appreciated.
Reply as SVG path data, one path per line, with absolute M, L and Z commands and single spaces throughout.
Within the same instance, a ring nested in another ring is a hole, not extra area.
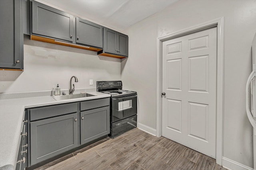
M 110 105 L 110 98 L 104 98 L 104 99 L 97 99 L 97 100 L 90 100 L 81 102 L 80 110 L 88 110 L 88 109 L 94 109 L 97 107 L 103 107 L 103 106 L 109 106 Z

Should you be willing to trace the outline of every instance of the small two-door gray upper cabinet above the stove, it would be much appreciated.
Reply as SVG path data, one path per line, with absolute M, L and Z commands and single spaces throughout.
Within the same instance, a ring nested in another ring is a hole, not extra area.
M 128 57 L 128 36 L 109 28 L 104 28 L 104 47 L 98 55 Z

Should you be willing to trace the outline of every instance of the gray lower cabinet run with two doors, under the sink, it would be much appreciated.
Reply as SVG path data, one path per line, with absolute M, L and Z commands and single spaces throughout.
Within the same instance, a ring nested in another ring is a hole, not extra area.
M 110 98 L 34 107 L 27 115 L 28 167 L 110 133 Z

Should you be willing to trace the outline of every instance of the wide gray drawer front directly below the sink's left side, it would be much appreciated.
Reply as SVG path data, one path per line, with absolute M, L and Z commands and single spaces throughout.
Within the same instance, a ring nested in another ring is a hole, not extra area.
M 77 103 L 30 109 L 30 121 L 77 112 Z

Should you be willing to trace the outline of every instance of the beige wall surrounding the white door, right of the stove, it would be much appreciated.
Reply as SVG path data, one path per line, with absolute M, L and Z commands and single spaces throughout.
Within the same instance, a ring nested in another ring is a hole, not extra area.
M 138 122 L 156 129 L 156 38 L 224 17 L 223 156 L 253 167 L 252 127 L 246 117 L 245 85 L 256 33 L 255 0 L 180 0 L 124 30 L 129 58 L 121 63 L 125 89 L 138 92 Z

